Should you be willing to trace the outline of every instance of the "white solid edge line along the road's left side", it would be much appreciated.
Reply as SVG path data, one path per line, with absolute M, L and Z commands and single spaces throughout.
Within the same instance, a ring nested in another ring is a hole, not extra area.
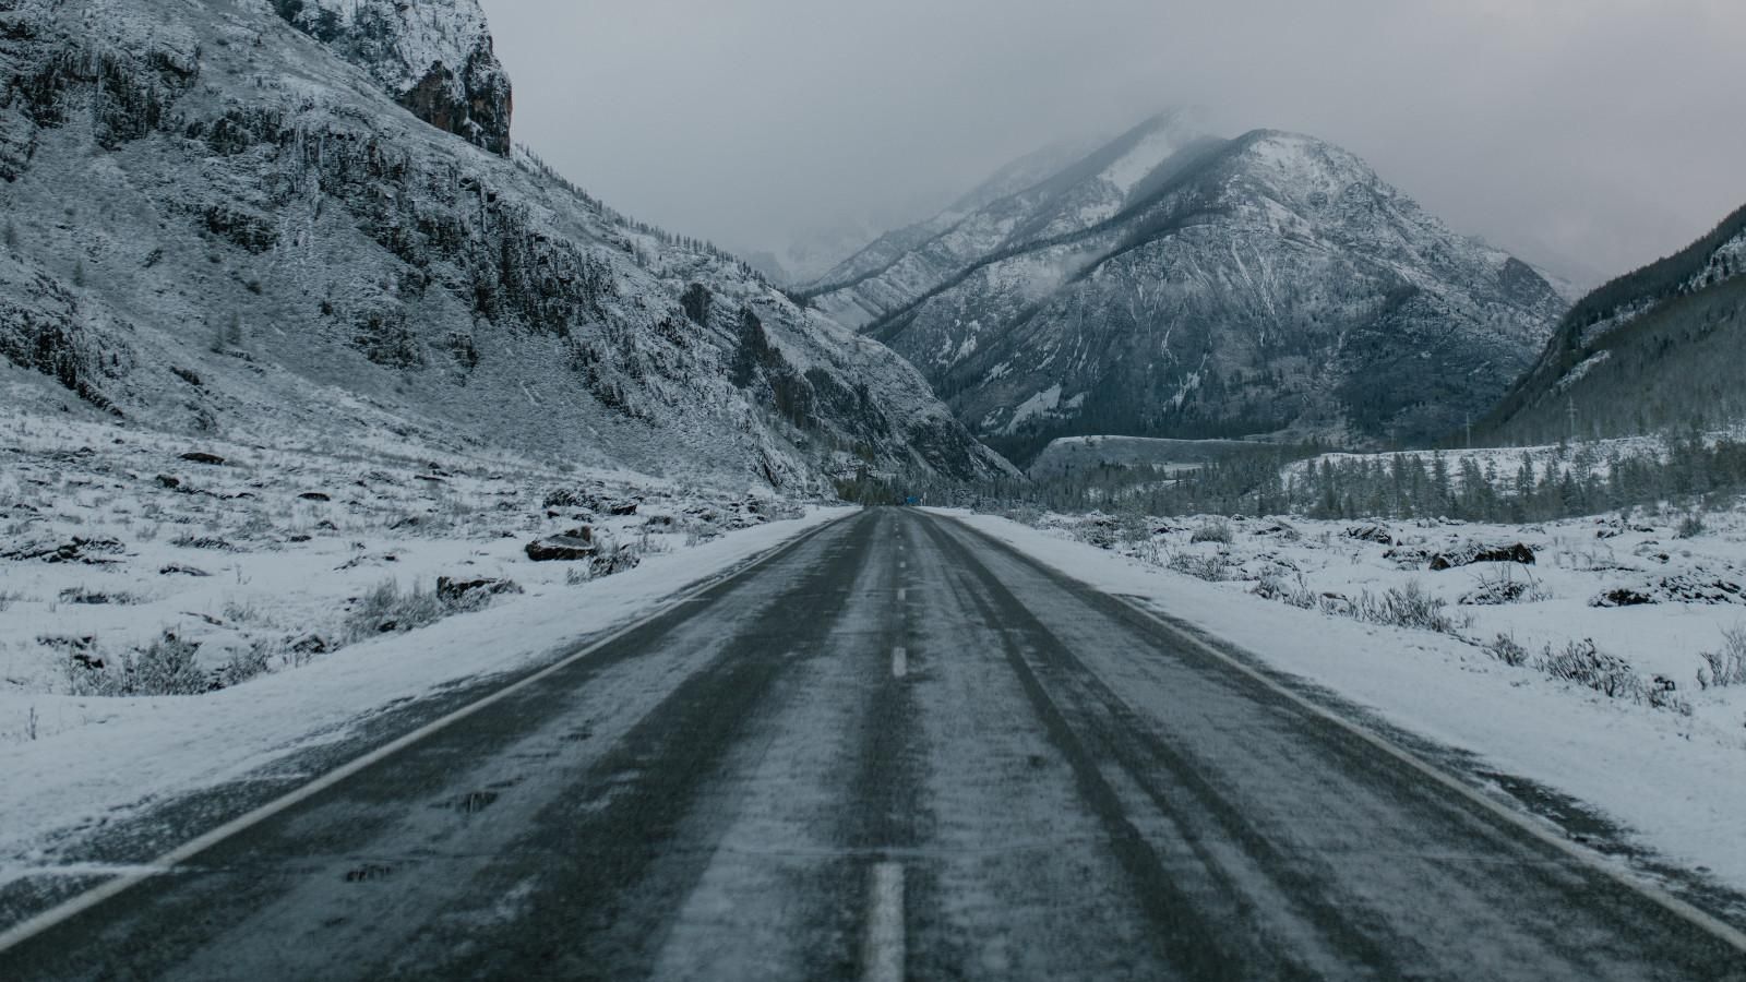
M 442 716 L 438 720 L 424 723 L 423 727 L 412 730 L 410 734 L 405 734 L 405 736 L 402 736 L 402 737 L 398 737 L 398 739 L 395 739 L 391 743 L 386 743 L 386 744 L 372 750 L 370 753 L 365 753 L 363 757 L 358 757 L 358 758 L 354 758 L 354 760 L 351 760 L 347 764 L 342 764 L 342 765 L 335 767 L 333 771 L 328 771 L 327 774 L 316 778 L 314 781 L 311 781 L 311 783 L 307 783 L 307 785 L 304 785 L 304 786 L 300 786 L 300 788 L 297 788 L 293 792 L 288 792 L 288 793 L 285 793 L 285 795 L 281 795 L 281 797 L 278 797 L 278 799 L 274 799 L 274 800 L 271 800 L 271 802 L 257 807 L 255 811 L 250 811 L 250 813 L 244 813 L 244 814 L 241 814 L 237 818 L 232 818 L 230 821 L 220 825 L 218 828 L 213 828 L 211 832 L 208 832 L 204 835 L 190 839 L 189 842 L 183 842 L 182 846 L 171 849 L 169 853 L 164 853 L 162 856 L 157 856 L 155 860 L 150 860 L 147 863 L 140 863 L 138 868 L 136 868 L 136 872 L 129 872 L 126 875 L 119 875 L 115 879 L 105 881 L 105 882 L 101 882 L 101 884 L 98 884 L 98 886 L 94 886 L 94 888 L 91 888 L 91 889 L 87 889 L 84 893 L 79 893 L 75 896 L 70 896 L 70 898 L 63 900 L 61 903 L 58 903 L 58 905 L 44 910 L 42 914 L 37 914 L 33 917 L 19 921 L 17 924 L 14 924 L 14 926 L 7 928 L 3 933 L 0 933 L 0 952 L 5 952 L 9 949 L 12 949 L 12 947 L 17 947 L 19 944 L 23 944 L 23 942 L 26 942 L 26 940 L 40 935 L 42 931 L 47 931 L 49 928 L 54 928 L 56 924 L 61 924 L 63 921 L 77 917 L 79 914 L 84 914 L 86 910 L 89 910 L 89 909 L 103 903 L 105 900 L 110 900 L 112 896 L 126 893 L 127 889 L 138 886 L 140 882 L 143 882 L 147 879 L 152 879 L 155 875 L 162 875 L 166 872 L 171 872 L 178 865 L 182 865 L 182 863 L 189 861 L 190 858 L 204 853 L 206 849 L 211 849 L 213 846 L 217 846 L 218 842 L 223 842 L 225 839 L 236 835 L 237 832 L 243 832 L 243 830 L 246 830 L 246 828 L 250 828 L 253 825 L 258 825 L 258 823 L 262 823 L 262 821 L 265 821 L 265 819 L 279 814 L 281 811 L 285 811 L 285 809 L 288 809 L 288 807 L 292 807 L 292 806 L 295 806 L 299 802 L 304 802 L 304 800 L 307 800 L 307 799 L 311 799 L 314 795 L 320 795 L 321 792 L 332 788 L 333 785 L 339 785 L 346 778 L 351 778 L 353 774 L 356 774 L 356 772 L 360 772 L 360 771 L 363 771 L 363 769 L 367 769 L 367 767 L 370 767 L 374 764 L 379 764 L 379 762 L 393 757 L 395 753 L 400 753 L 402 750 L 405 750 L 405 748 L 409 748 L 409 746 L 412 746 L 412 744 L 416 744 L 416 743 L 419 743 L 419 741 L 423 741 L 423 739 L 436 734 L 438 730 L 443 730 L 443 729 L 447 729 L 447 727 L 450 727 L 454 723 L 459 723 L 461 720 L 464 720 L 464 718 L 478 713 L 480 709 L 494 706 L 494 704 L 501 702 L 503 699 L 508 699 L 510 695 L 513 695 L 513 694 L 517 694 L 517 692 L 520 692 L 520 690 L 524 690 L 524 688 L 527 688 L 531 685 L 545 681 L 546 678 L 550 678 L 550 676 L 553 676 L 553 674 L 567 669 L 569 666 L 573 666 L 573 664 L 587 659 L 588 655 L 594 655 L 601 648 L 611 645 L 613 641 L 618 641 L 620 638 L 630 634 L 632 631 L 637 631 L 639 627 L 643 627 L 643 626 L 646 626 L 646 624 L 650 624 L 653 620 L 660 620 L 662 617 L 665 617 L 665 615 L 672 613 L 674 610 L 677 610 L 681 605 L 691 603 L 693 599 L 698 599 L 702 594 L 705 594 L 705 592 L 719 587 L 721 584 L 732 582 L 732 580 L 735 580 L 739 577 L 744 577 L 746 573 L 751 573 L 753 570 L 756 570 L 756 568 L 770 563 L 772 559 L 775 559 L 777 556 L 780 556 L 780 554 L 784 554 L 784 552 L 787 552 L 791 549 L 798 549 L 808 538 L 812 538 L 812 536 L 822 533 L 824 529 L 835 526 L 836 522 L 840 522 L 843 519 L 849 519 L 852 515 L 857 515 L 857 514 L 861 514 L 861 512 L 849 512 L 849 514 L 835 517 L 835 519 L 831 519 L 831 521 L 828 521 L 828 522 L 824 522 L 821 526 L 805 529 L 800 535 L 796 535 L 794 538 L 789 538 L 786 542 L 772 545 L 763 554 L 753 556 L 749 561 L 746 561 L 746 563 L 742 563 L 742 564 L 739 564 L 739 566 L 735 566 L 732 570 L 726 570 L 723 573 L 718 573 L 718 575 L 704 580 L 695 589 L 686 591 L 684 596 L 681 596 L 677 599 L 670 599 L 670 601 L 656 606 L 650 613 L 644 613 L 643 617 L 637 617 L 636 620 L 632 620 L 632 622 L 625 624 L 623 627 L 613 631 L 606 638 L 601 638 L 599 641 L 594 641 L 587 648 L 581 648 L 580 652 L 574 652 L 571 655 L 566 655 L 566 657 L 559 659 L 557 662 L 553 662 L 553 664 L 550 664 L 550 666 L 536 671 L 534 674 L 529 674 L 529 676 L 526 676 L 522 680 L 512 681 L 510 685 L 505 685 L 503 688 L 498 688 L 496 692 L 492 692 L 492 694 L 478 699 L 477 702 L 468 702 L 466 706 L 461 706 L 459 709 L 454 709 L 447 716 Z

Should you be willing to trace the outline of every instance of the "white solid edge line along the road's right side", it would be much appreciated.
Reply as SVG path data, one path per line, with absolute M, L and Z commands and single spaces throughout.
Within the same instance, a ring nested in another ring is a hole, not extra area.
M 1400 764 L 1406 764 L 1407 767 L 1418 771 L 1419 774 L 1430 778 L 1432 781 L 1442 785 L 1444 788 L 1447 788 L 1447 790 L 1461 795 L 1468 802 L 1472 802 L 1472 804 L 1486 809 L 1488 813 L 1491 813 L 1491 814 L 1502 818 L 1503 821 L 1514 825 L 1516 828 L 1526 832 L 1533 839 L 1538 839 L 1540 842 L 1543 842 L 1547 846 L 1552 846 L 1559 853 L 1564 853 L 1566 856 L 1570 856 L 1577 863 L 1580 863 L 1580 865 L 1584 865 L 1584 867 L 1587 867 L 1587 868 L 1591 868 L 1591 870 L 1605 875 L 1606 879 L 1610 879 L 1610 881 L 1624 886 L 1626 889 L 1636 891 L 1638 895 L 1645 896 L 1646 900 L 1655 902 L 1659 907 L 1662 907 L 1669 914 L 1673 914 L 1673 916 L 1687 921 L 1688 924 L 1692 924 L 1695 928 L 1701 928 L 1701 930 L 1708 931 L 1716 940 L 1722 940 L 1723 944 L 1729 944 L 1729 945 L 1739 949 L 1741 952 L 1746 952 L 1746 931 L 1741 931 L 1734 924 L 1729 924 L 1727 921 L 1722 921 L 1720 917 L 1716 917 L 1716 916 L 1713 916 L 1713 914 L 1709 914 L 1709 912 L 1706 912 L 1706 910 L 1702 910 L 1702 909 L 1699 909 L 1699 907 L 1695 907 L 1695 905 L 1692 905 L 1692 903 L 1688 903 L 1685 900 L 1680 900 L 1678 896 L 1667 893 L 1666 889 L 1660 889 L 1659 886 L 1653 886 L 1653 884 L 1648 884 L 1648 882 L 1641 882 L 1638 877 L 1634 877 L 1634 875 L 1631 875 L 1631 874 L 1627 874 L 1624 870 L 1619 870 L 1615 867 L 1610 867 L 1610 865 L 1603 863 L 1599 858 L 1596 858 L 1587 849 L 1582 849 L 1580 846 L 1577 846 L 1575 842 L 1570 842 L 1568 839 L 1561 839 L 1557 835 L 1552 835 L 1550 832 L 1547 832 L 1545 828 L 1542 828 L 1538 823 L 1531 821 L 1529 818 L 1523 816 L 1521 813 L 1517 813 L 1517 811 L 1514 811 L 1510 807 L 1505 807 L 1505 806 L 1491 800 L 1489 797 L 1482 795 L 1477 788 L 1474 788 L 1467 781 L 1463 781 L 1463 779 L 1460 779 L 1460 778 L 1456 778 L 1453 774 L 1447 774 L 1447 772 L 1440 771 L 1439 767 L 1435 767 L 1433 764 L 1430 764 L 1425 758 L 1418 757 L 1416 753 L 1413 753 L 1409 750 L 1404 750 L 1400 746 L 1395 746 L 1386 737 L 1383 737 L 1383 736 L 1379 736 L 1379 734 L 1376 734 L 1376 732 L 1372 732 L 1372 730 L 1369 730 L 1365 727 L 1360 727 L 1358 723 L 1355 723 L 1351 720 L 1346 720 L 1344 716 L 1339 716 L 1332 709 L 1318 706 L 1316 702 L 1313 702 L 1313 701 L 1299 695 L 1297 692 L 1292 692 L 1285 685 L 1280 685 L 1276 680 L 1269 678 L 1266 673 L 1262 673 L 1262 671 L 1259 671 L 1259 669 L 1255 669 L 1255 667 L 1252 667 L 1248 664 L 1243 664 L 1240 659 L 1231 657 L 1226 652 L 1220 652 L 1219 648 L 1208 645 L 1206 641 L 1201 641 L 1200 638 L 1196 638 L 1189 631 L 1184 631 L 1182 627 L 1177 627 L 1175 624 L 1170 624 L 1168 620 L 1165 620 L 1163 617 L 1159 617 L 1158 613 L 1154 613 L 1152 610 L 1149 610 L 1138 599 L 1130 598 L 1130 596 L 1112 594 L 1109 591 L 1102 591 L 1102 589 L 1098 589 L 1098 587 L 1095 587 L 1095 585 L 1081 580 L 1079 577 L 1074 577 L 1072 573 L 1067 573 L 1065 570 L 1060 570 L 1060 568 L 1053 566 L 1051 563 L 1048 563 L 1044 559 L 1039 559 L 1039 557 L 1025 552 L 1018 545 L 1013 545 L 1009 542 L 1000 542 L 999 536 L 995 536 L 992 533 L 985 533 L 985 531 L 981 531 L 981 529 L 978 529 L 974 526 L 969 526 L 969 524 L 966 524 L 966 522 L 962 522 L 962 521 L 959 521 L 959 519 L 955 519 L 952 515 L 936 515 L 936 517 L 945 517 L 946 521 L 959 524 L 960 528 L 971 531 L 973 535 L 981 535 L 981 536 L 986 536 L 986 538 L 990 538 L 993 542 L 999 542 L 1000 545 L 1006 545 L 1007 549 L 1018 552 L 1020 556 L 1030 559 L 1032 563 L 1035 563 L 1039 566 L 1046 566 L 1049 570 L 1055 570 L 1062 577 L 1065 577 L 1065 578 L 1069 578 L 1069 580 L 1072 580 L 1072 582 L 1076 582 L 1076 584 L 1079 584 L 1079 585 L 1083 585 L 1083 587 L 1086 587 L 1086 589 L 1090 589 L 1093 592 L 1100 592 L 1100 594 L 1103 594 L 1107 598 L 1114 598 L 1116 601 L 1126 605 L 1130 610 L 1133 610 L 1140 617 L 1145 617 L 1147 620 L 1151 620 L 1151 622 L 1158 624 L 1159 627 L 1166 629 L 1170 634 L 1180 636 L 1182 640 L 1186 640 L 1187 643 L 1194 645 L 1201 652 L 1205 652 L 1205 654 L 1212 655 L 1213 659 L 1224 662 L 1226 666 L 1236 669 L 1240 674 L 1245 674 L 1250 680 L 1259 681 L 1264 688 L 1275 692 L 1276 695 L 1282 695 L 1287 701 L 1294 702 L 1296 706 L 1310 711 L 1311 715 L 1320 716 L 1322 720 L 1327 720 L 1329 723 L 1334 723 L 1336 727 L 1350 732 L 1351 736 L 1362 739 L 1364 743 L 1367 743 L 1372 748 L 1383 751 L 1385 755 L 1393 757 Z

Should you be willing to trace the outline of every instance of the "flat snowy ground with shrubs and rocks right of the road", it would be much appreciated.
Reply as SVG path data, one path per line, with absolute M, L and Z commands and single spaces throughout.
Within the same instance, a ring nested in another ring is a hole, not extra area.
M 1746 582 L 1743 510 L 1704 515 L 1706 529 L 1690 538 L 1676 538 L 1674 515 L 1528 528 L 1250 519 L 1229 522 L 1229 543 L 1208 542 L 1220 531 L 1203 531 L 1224 528 L 1219 519 L 959 517 L 1393 725 L 1474 753 L 1481 771 L 1585 802 L 1624 826 L 1631 846 L 1746 889 L 1746 685 L 1704 687 L 1697 678 L 1699 669 L 1708 674 L 1701 654 L 1725 648 L 1723 633 L 1746 624 L 1746 598 L 1730 592 Z M 1385 536 L 1393 543 L 1378 542 Z M 1430 570 L 1433 556 L 1467 543 L 1523 543 L 1535 563 Z M 1461 603 L 1500 582 L 1526 584 L 1526 596 Z M 1446 601 L 1446 631 L 1351 615 L 1365 594 L 1374 606 L 1409 584 Z M 1619 589 L 1659 603 L 1591 606 Z M 1294 606 L 1294 598 L 1313 606 Z M 1486 650 L 1498 634 L 1514 636 L 1526 664 Z M 1587 638 L 1603 659 L 1627 662 L 1636 687 L 1608 697 L 1538 667 L 1545 647 L 1556 655 Z

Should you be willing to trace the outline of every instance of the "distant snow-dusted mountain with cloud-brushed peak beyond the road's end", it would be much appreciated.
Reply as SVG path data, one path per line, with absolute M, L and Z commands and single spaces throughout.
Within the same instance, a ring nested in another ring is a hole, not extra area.
M 1348 152 L 1180 115 L 828 280 L 821 309 L 1016 458 L 1079 433 L 1439 437 L 1564 308 Z

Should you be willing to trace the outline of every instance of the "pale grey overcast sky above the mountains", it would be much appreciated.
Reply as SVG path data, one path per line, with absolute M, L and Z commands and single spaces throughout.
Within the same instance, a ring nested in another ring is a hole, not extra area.
M 520 142 L 733 248 L 915 220 L 1173 105 L 1341 143 L 1561 273 L 1746 204 L 1743 0 L 482 2 Z

